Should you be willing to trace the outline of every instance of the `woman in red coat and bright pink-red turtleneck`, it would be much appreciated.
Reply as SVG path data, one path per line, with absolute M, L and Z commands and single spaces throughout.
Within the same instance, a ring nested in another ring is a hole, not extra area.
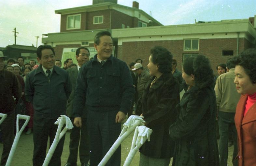
M 236 106 L 238 165 L 256 166 L 256 49 L 239 54 L 235 66 L 235 85 L 242 94 Z

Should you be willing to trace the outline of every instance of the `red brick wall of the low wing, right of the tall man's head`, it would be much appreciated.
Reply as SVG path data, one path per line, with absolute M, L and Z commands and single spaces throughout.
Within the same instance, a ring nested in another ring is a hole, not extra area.
M 119 46 L 119 58 L 127 64 L 134 62 L 135 59 L 141 58 L 143 66 L 147 67 L 149 63 L 150 49 L 156 45 L 167 48 L 172 54 L 173 58 L 177 60 L 177 68 L 181 70 L 183 53 L 199 53 L 206 55 L 211 63 L 214 74 L 217 75 L 216 65 L 219 63 L 226 63 L 229 58 L 236 56 L 237 39 L 201 39 L 199 42 L 199 51 L 183 51 L 183 40 L 173 41 L 141 41 L 141 42 L 123 42 Z M 239 53 L 244 49 L 251 47 L 246 39 L 239 39 Z M 223 50 L 233 50 L 233 56 L 223 56 Z M 121 55 L 120 55 L 121 54 Z

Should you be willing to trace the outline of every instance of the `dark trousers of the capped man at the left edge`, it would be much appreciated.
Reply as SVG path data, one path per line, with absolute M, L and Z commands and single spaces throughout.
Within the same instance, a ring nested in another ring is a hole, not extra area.
M 4 166 L 6 164 L 14 140 L 14 120 L 15 112 L 8 114 L 6 119 L 0 125 L 0 130 L 2 132 L 2 140 L 4 144 L 0 164 L 1 166 Z

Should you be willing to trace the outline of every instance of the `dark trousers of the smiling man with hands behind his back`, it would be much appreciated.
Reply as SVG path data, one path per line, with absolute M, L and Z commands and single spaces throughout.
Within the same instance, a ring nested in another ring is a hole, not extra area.
M 50 137 L 50 145 L 52 144 L 58 125 L 55 125 L 56 119 L 44 119 L 34 116 L 34 154 L 33 166 L 42 166 L 46 157 L 46 148 L 48 137 Z M 65 136 L 59 141 L 49 166 L 61 166 L 61 155 L 63 150 Z

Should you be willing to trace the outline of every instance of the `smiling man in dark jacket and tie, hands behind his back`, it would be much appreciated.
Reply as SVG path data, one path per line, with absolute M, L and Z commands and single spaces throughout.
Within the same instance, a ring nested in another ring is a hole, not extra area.
M 54 65 L 55 54 L 50 45 L 40 45 L 36 54 L 41 65 L 27 76 L 25 96 L 35 109 L 33 166 L 41 166 L 46 157 L 48 136 L 51 145 L 58 128 L 54 122 L 60 115 L 66 114 L 67 99 L 72 87 L 68 73 Z M 64 139 L 58 143 L 49 166 L 61 165 Z

